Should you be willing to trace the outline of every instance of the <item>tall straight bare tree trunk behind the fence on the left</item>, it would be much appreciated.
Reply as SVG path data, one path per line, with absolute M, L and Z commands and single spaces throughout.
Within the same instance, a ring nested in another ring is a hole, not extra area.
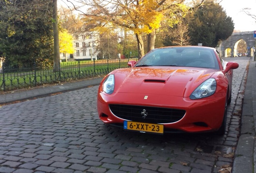
M 59 71 L 60 68 L 60 46 L 59 46 L 59 32 L 58 32 L 58 14 L 57 14 L 57 0 L 53 0 L 53 32 L 54 32 L 54 72 Z

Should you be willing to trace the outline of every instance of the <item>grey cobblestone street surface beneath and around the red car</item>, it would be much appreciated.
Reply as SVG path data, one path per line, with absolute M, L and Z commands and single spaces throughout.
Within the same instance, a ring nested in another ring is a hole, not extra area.
M 1 173 L 218 173 L 239 137 L 248 57 L 236 61 L 227 133 L 152 135 L 104 125 L 98 87 L 0 107 Z

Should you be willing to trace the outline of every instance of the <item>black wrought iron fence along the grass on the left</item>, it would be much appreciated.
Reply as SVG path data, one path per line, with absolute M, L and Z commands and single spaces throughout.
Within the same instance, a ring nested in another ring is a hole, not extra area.
M 117 68 L 128 67 L 131 59 L 74 61 L 60 63 L 58 71 L 50 68 L 0 69 L 0 91 L 40 86 L 101 76 Z M 136 59 L 134 59 L 136 60 Z

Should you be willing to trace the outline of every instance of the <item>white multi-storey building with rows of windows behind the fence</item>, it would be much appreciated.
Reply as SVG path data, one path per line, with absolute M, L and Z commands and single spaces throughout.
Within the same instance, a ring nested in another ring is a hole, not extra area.
M 76 31 L 76 30 L 75 30 Z M 82 60 L 97 60 L 97 34 L 81 32 L 74 35 L 73 46 L 75 48 L 74 54 L 65 54 L 60 53 L 61 62 L 68 61 L 82 61 Z

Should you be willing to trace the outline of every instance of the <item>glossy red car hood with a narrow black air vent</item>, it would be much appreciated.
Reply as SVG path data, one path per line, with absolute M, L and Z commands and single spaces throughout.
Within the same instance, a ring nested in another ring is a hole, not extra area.
M 216 71 L 192 67 L 143 67 L 114 70 L 115 93 L 140 93 L 189 97 Z

